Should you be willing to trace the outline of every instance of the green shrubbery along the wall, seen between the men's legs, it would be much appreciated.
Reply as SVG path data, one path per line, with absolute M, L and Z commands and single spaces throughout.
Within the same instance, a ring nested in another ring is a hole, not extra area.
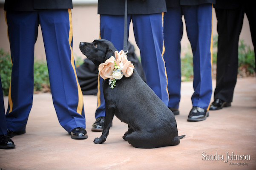
M 213 37 L 213 69 L 216 69 L 217 60 L 217 44 L 218 36 Z M 240 40 L 239 44 L 239 75 L 241 77 L 255 75 L 255 57 L 254 51 L 250 49 L 249 45 L 244 44 L 243 40 Z M 75 57 L 76 67 L 83 64 L 81 57 Z M 12 73 L 12 62 L 10 54 L 5 52 L 3 48 L 0 49 L 0 75 L 3 86 L 4 96 L 8 95 L 9 85 Z M 216 73 L 216 70 L 213 70 Z M 213 76 L 214 77 L 214 76 Z M 191 48 L 188 48 L 181 55 L 181 80 L 192 81 L 193 80 L 193 54 Z M 34 91 L 50 91 L 49 88 L 49 76 L 47 64 L 45 61 L 35 61 L 34 63 Z

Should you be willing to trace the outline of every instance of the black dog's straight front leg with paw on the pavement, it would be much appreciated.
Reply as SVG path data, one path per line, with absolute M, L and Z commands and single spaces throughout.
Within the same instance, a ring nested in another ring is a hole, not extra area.
M 94 139 L 93 142 L 95 144 L 102 144 L 103 142 L 106 141 L 106 138 L 109 135 L 109 128 L 111 127 L 114 113 L 115 113 L 115 108 L 106 109 L 105 122 L 104 122 L 102 135 L 101 135 L 101 137 Z

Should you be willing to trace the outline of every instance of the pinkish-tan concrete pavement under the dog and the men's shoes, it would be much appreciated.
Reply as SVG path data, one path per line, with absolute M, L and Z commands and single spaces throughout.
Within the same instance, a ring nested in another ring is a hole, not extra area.
M 213 89 L 215 85 L 213 81 Z M 0 150 L 0 169 L 255 170 L 255 77 L 239 78 L 232 106 L 210 111 L 205 121 L 187 122 L 192 94 L 193 83 L 182 82 L 180 115 L 175 118 L 179 135 L 186 136 L 177 146 L 155 149 L 138 149 L 124 141 L 127 125 L 116 117 L 106 142 L 94 144 L 94 138 L 101 136 L 91 131 L 97 96 L 83 96 L 88 139 L 71 139 L 58 122 L 51 94 L 35 94 L 26 133 L 12 138 L 13 149 Z M 8 98 L 4 100 L 7 108 Z

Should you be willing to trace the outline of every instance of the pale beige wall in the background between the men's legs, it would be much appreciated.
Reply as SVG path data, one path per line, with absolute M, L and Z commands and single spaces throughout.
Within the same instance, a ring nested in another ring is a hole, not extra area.
M 90 0 L 92 2 L 95 0 Z M 74 1 L 73 1 L 74 2 Z M 78 3 L 79 0 L 74 3 L 74 8 L 72 9 L 72 25 L 73 25 L 73 52 L 75 57 L 84 58 L 83 54 L 79 50 L 79 42 L 92 42 L 95 39 L 99 38 L 99 24 L 100 16 L 97 14 L 97 3 L 81 4 Z M 132 25 L 130 26 L 132 28 Z M 217 34 L 217 20 L 215 11 L 213 9 L 213 35 Z M 3 4 L 0 6 L 0 48 L 3 48 L 5 51 L 10 51 L 9 40 L 7 38 L 7 26 L 5 22 L 5 16 L 3 11 Z M 139 56 L 139 49 L 136 46 L 135 39 L 133 36 L 133 31 L 129 31 L 129 41 L 135 46 L 136 54 Z M 253 49 L 251 37 L 250 37 L 250 28 L 246 15 L 244 16 L 244 24 L 242 32 L 240 34 L 240 39 L 243 39 L 244 42 L 251 46 Z M 184 34 L 181 40 L 181 50 L 184 51 L 190 43 L 187 39 L 187 33 L 184 26 Z M 38 38 L 35 44 L 35 57 L 36 59 L 45 59 L 45 52 L 43 47 L 43 38 L 40 27 L 38 28 Z

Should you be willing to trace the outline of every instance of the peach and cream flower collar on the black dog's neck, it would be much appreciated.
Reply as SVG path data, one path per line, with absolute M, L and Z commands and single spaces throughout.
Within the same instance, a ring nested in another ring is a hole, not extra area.
M 123 75 L 130 77 L 133 73 L 133 64 L 128 61 L 126 53 L 121 50 L 119 53 L 115 51 L 115 57 L 111 56 L 104 63 L 99 65 L 98 71 L 103 79 L 109 78 L 110 88 L 114 88 L 117 79 L 121 79 Z

